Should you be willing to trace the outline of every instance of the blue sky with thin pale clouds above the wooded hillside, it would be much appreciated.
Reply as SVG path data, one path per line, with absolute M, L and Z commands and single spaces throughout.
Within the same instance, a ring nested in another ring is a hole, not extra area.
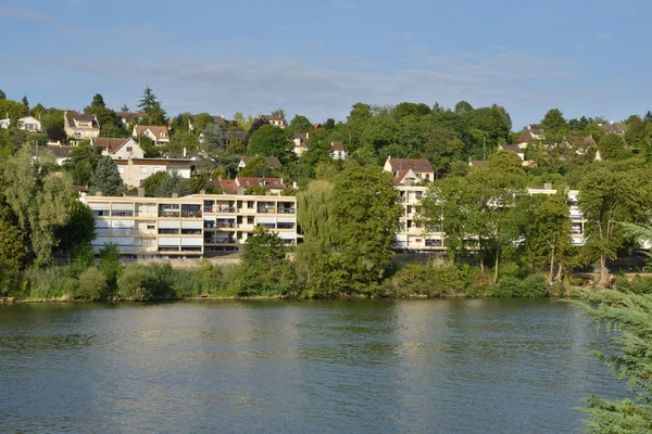
M 551 107 L 619 120 L 652 110 L 651 17 L 643 0 L 0 0 L 0 89 L 117 110 L 149 85 L 172 115 L 466 100 L 516 130 Z

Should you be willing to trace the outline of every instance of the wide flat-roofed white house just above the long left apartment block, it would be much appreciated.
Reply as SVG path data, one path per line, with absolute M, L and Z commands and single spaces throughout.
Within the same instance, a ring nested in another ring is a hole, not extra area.
M 129 188 L 140 187 L 150 175 L 159 171 L 170 175 L 176 171 L 181 178 L 189 179 L 195 165 L 190 158 L 127 158 L 114 162 L 123 182 Z

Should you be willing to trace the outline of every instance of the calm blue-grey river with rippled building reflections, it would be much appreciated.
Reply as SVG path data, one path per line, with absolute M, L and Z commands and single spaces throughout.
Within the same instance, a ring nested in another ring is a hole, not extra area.
M 549 299 L 0 306 L 0 432 L 580 432 L 605 347 Z

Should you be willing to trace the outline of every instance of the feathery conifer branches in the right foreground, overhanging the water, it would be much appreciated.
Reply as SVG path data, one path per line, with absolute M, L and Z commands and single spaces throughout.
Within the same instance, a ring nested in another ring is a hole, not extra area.
M 618 291 L 581 291 L 582 302 L 574 302 L 612 337 L 614 350 L 598 354 L 612 373 L 627 382 L 629 397 L 609 400 L 586 398 L 587 432 L 593 434 L 638 434 L 652 431 L 652 352 L 650 323 L 652 295 Z M 617 334 L 611 334 L 614 331 Z

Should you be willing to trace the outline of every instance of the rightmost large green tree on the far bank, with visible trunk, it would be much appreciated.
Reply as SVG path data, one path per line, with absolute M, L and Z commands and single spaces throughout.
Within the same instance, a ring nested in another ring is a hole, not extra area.
M 650 179 L 647 171 L 630 164 L 625 167 L 602 164 L 580 181 L 578 204 L 587 219 L 586 248 L 599 259 L 601 284 L 609 281 L 606 259 L 616 257 L 625 238 L 617 222 L 638 222 L 647 216 Z

